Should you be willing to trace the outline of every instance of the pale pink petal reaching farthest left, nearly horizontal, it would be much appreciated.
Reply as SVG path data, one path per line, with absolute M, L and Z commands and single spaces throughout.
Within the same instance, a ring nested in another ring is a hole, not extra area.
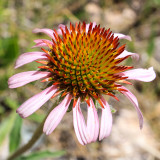
M 42 72 L 42 71 L 28 71 L 28 72 L 21 72 L 18 74 L 13 75 L 8 80 L 9 88 L 17 88 L 24 86 L 27 83 L 46 78 L 50 76 L 50 72 Z

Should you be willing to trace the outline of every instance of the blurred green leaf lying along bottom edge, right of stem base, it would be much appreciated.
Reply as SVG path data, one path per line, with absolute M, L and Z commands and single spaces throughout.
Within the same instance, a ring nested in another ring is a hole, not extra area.
M 16 160 L 43 160 L 44 158 L 60 157 L 63 156 L 65 153 L 66 153 L 65 151 L 57 151 L 57 152 L 41 151 L 32 153 L 28 156 L 21 156 Z

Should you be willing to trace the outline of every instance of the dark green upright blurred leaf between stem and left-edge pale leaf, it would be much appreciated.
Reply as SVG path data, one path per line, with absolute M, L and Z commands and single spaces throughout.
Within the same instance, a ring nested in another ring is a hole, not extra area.
M 21 140 L 21 126 L 22 126 L 22 118 L 17 114 L 14 125 L 10 132 L 10 141 L 9 141 L 9 151 L 15 151 L 20 144 Z

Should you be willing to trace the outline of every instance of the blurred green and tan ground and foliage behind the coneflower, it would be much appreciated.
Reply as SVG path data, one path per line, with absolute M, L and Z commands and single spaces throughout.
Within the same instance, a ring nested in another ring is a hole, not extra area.
M 16 58 L 24 52 L 40 51 L 31 49 L 33 40 L 46 36 L 33 34 L 34 28 L 57 29 L 60 23 L 79 21 L 95 21 L 113 32 L 130 35 L 132 42 L 121 42 L 127 44 L 128 51 L 139 53 L 140 60 L 127 63 L 135 68 L 154 67 L 157 77 L 153 82 L 129 86 L 143 112 L 144 128 L 139 129 L 132 104 L 119 95 L 120 102 L 108 99 L 116 113 L 107 139 L 81 146 L 71 111 L 50 136 L 43 135 L 21 159 L 160 159 L 160 0 L 0 0 L 0 160 L 28 142 L 54 102 L 46 103 L 25 120 L 16 114 L 18 106 L 41 89 L 37 82 L 8 89 L 10 76 L 37 66 L 33 62 L 14 70 Z

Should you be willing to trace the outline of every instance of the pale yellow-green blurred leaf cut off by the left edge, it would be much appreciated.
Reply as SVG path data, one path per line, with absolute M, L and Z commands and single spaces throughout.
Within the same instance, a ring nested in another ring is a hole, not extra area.
M 5 140 L 5 137 L 9 134 L 13 124 L 14 120 L 16 118 L 16 112 L 13 111 L 10 116 L 8 116 L 6 119 L 4 119 L 0 125 L 0 145 Z

